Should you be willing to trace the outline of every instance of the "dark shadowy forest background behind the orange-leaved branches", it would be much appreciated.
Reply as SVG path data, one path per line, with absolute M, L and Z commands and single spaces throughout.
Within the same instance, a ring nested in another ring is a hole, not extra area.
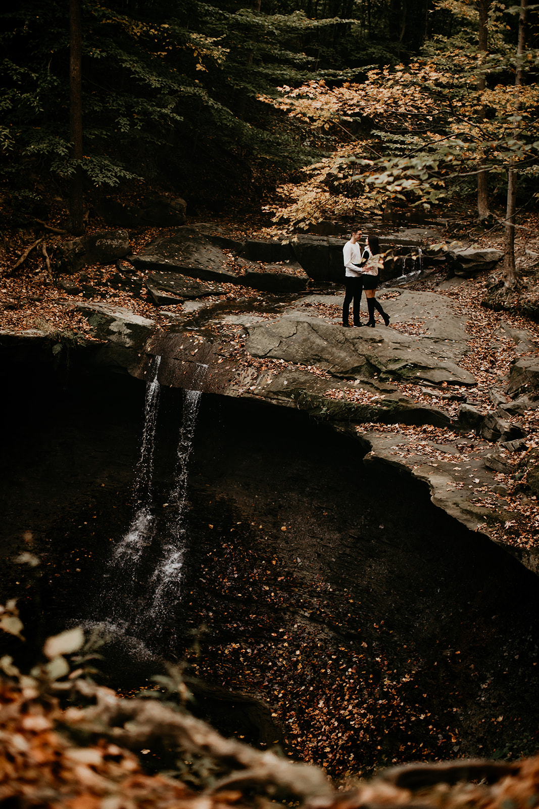
M 191 210 L 219 211 L 233 200 L 252 205 L 335 148 L 334 133 L 306 137 L 305 121 L 264 103 L 262 95 L 277 101 L 277 88 L 312 81 L 362 83 L 368 70 L 406 66 L 422 53 L 439 54 L 440 70 L 450 71 L 452 49 L 486 50 L 478 15 L 496 9 L 504 15 L 507 56 L 517 48 L 519 9 L 486 0 L 258 0 L 247 7 L 22 0 L 4 6 L 0 224 L 46 218 L 51 197 L 66 200 L 75 176 L 85 205 L 106 193 L 154 186 L 184 197 Z M 536 23 L 531 6 L 528 81 L 537 65 Z M 73 36 L 81 48 L 79 151 Z M 506 58 L 493 74 L 512 84 L 515 67 Z M 391 154 L 387 139 L 385 145 Z

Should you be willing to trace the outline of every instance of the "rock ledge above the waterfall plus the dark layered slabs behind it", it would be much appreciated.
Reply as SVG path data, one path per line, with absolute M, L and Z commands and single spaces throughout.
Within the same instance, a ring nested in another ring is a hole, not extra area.
M 478 407 L 478 380 L 470 372 L 474 337 L 466 313 L 450 296 L 386 287 L 389 328 L 342 328 L 342 295 L 314 290 L 293 296 L 291 290 L 307 279 L 294 256 L 304 265 L 312 262 L 314 274 L 322 257 L 326 273 L 331 256 L 340 267 L 342 244 L 326 237 L 240 242 L 211 224 L 179 227 L 131 259 L 147 273 L 154 301 L 175 304 L 175 312 L 162 311 L 156 328 L 153 320 L 131 318 L 120 307 L 82 303 L 95 337 L 104 341 L 88 347 L 91 362 L 146 381 L 159 357 L 163 388 L 255 398 L 309 413 L 360 442 L 373 462 L 398 464 L 427 481 L 441 508 L 503 542 L 504 526 L 512 524 L 511 503 L 493 498 L 509 490 L 514 498 L 517 486 L 524 498 L 532 490 L 527 478 L 534 480 L 525 466 L 526 420 L 539 406 L 533 335 L 500 320 L 499 337 L 514 354 L 510 378 L 507 386 L 496 381 L 491 407 L 482 394 Z M 241 287 L 250 285 L 272 292 L 242 295 Z M 211 300 L 230 290 L 229 299 Z M 279 296 L 273 297 L 275 291 Z M 36 339 L 41 335 L 29 334 L 27 342 L 35 345 Z M 42 339 L 50 347 L 50 338 Z M 411 384 L 418 400 L 406 395 Z M 387 425 L 387 436 L 373 425 Z M 453 451 L 428 436 L 411 440 L 406 426 L 422 425 L 450 430 Z M 473 462 L 467 445 L 477 452 Z M 474 485 L 465 475 L 474 476 Z M 509 552 L 539 571 L 536 549 L 522 547 L 510 534 Z

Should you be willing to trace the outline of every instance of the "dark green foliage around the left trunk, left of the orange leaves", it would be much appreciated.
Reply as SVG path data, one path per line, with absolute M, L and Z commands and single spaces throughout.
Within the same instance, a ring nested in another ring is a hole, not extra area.
M 9 182 L 15 160 L 27 184 L 32 172 L 65 180 L 78 165 L 69 146 L 67 8 L 23 0 L 0 16 L 0 178 Z M 222 155 L 238 167 L 245 160 L 305 163 L 310 155 L 298 152 L 290 128 L 276 126 L 257 98 L 276 83 L 305 81 L 314 68 L 340 78 L 342 60 L 328 43 L 352 22 L 194 0 L 82 0 L 86 185 L 171 176 L 171 167 L 179 183 L 188 182 L 183 163 L 220 165 Z M 318 48 L 316 58 L 305 45 Z

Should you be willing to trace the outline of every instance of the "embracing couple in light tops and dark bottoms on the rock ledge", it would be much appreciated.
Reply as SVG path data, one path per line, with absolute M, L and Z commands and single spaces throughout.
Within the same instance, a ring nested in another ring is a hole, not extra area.
M 380 252 L 377 236 L 368 236 L 362 254 L 360 245 L 361 231 L 353 231 L 352 238 L 343 247 L 344 269 L 346 269 L 346 292 L 343 303 L 343 326 L 349 326 L 348 311 L 352 300 L 354 312 L 354 325 L 360 323 L 361 292 L 365 290 L 368 306 L 368 326 L 375 326 L 374 310 L 380 312 L 387 326 L 390 316 L 382 309 L 375 295 L 378 286 L 378 270 L 384 266 L 384 256 Z

